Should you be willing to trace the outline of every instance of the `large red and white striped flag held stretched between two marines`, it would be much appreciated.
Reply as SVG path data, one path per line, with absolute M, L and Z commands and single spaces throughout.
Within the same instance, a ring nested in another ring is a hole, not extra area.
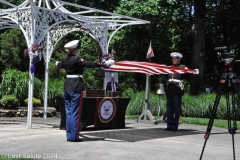
M 115 62 L 115 65 L 111 65 L 104 68 L 105 71 L 116 71 L 116 72 L 130 72 L 130 73 L 144 73 L 148 75 L 159 75 L 159 74 L 188 74 L 194 73 L 195 70 L 174 68 L 162 64 L 149 63 L 149 62 L 136 62 L 136 61 L 119 61 Z

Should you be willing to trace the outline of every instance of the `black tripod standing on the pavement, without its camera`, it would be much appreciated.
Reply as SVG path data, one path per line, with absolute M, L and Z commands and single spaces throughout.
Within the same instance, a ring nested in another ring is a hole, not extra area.
M 234 134 L 236 133 L 237 130 L 237 123 L 236 123 L 236 105 L 239 103 L 239 101 L 236 101 L 236 94 L 238 95 L 238 98 L 240 99 L 240 91 L 239 91 L 239 80 L 237 79 L 236 74 L 233 72 L 233 68 L 231 66 L 230 62 L 225 62 L 225 69 L 224 73 L 222 73 L 222 77 L 220 80 L 219 88 L 217 91 L 217 96 L 214 101 L 213 108 L 211 110 L 211 115 L 210 119 L 208 122 L 208 127 L 207 131 L 204 135 L 205 142 L 203 145 L 202 153 L 200 156 L 200 160 L 202 159 L 203 152 L 207 143 L 207 140 L 210 136 L 213 122 L 214 122 L 214 117 L 217 112 L 218 104 L 221 98 L 221 95 L 223 91 L 225 92 L 226 95 L 226 107 L 227 107 L 227 118 L 228 118 L 228 132 L 232 135 L 232 143 L 233 143 L 233 159 L 235 160 L 235 147 L 234 147 Z M 229 93 L 231 93 L 231 96 L 229 96 Z M 236 93 L 236 94 L 235 94 Z M 231 97 L 231 103 L 229 102 L 229 97 Z

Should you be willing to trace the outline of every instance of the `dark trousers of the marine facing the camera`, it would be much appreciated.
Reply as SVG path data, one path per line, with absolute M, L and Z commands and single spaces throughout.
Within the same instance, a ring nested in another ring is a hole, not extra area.
M 178 129 L 182 96 L 167 96 L 167 128 Z

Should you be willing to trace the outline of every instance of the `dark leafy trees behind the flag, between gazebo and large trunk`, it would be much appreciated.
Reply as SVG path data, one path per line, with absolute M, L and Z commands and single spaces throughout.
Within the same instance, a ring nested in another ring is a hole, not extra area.
M 191 16 L 189 7 L 183 1 L 172 0 L 126 0 L 116 8 L 119 14 L 149 20 L 151 24 L 130 26 L 123 28 L 114 36 L 112 45 L 119 59 L 133 61 L 146 60 L 149 41 L 152 40 L 154 50 L 153 63 L 170 64 L 169 54 L 179 51 L 184 54 L 184 60 L 188 61 L 191 55 Z M 130 45 L 129 45 L 130 44 Z M 160 78 L 165 76 L 160 75 Z M 135 74 L 137 89 L 142 90 L 146 86 L 146 78 L 143 74 Z M 156 88 L 159 78 L 153 77 L 152 90 Z

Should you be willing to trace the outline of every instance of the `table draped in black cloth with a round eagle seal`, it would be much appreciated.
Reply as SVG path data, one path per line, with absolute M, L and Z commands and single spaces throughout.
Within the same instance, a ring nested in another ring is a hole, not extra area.
M 122 97 L 83 97 L 81 128 L 125 128 L 125 113 L 131 98 Z M 66 128 L 65 101 L 56 96 L 61 111 L 60 128 Z M 109 108 L 110 107 L 110 108 Z

